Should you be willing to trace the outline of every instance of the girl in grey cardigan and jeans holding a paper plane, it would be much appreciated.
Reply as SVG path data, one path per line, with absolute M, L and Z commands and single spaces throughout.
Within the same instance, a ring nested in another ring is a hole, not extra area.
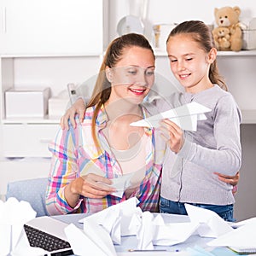
M 232 186 L 220 182 L 214 172 L 234 176 L 241 166 L 241 112 L 218 74 L 212 32 L 201 21 L 185 21 L 172 30 L 166 49 L 172 73 L 185 90 L 168 102 L 177 107 L 195 101 L 212 111 L 206 113 L 207 120 L 198 121 L 196 132 L 182 131 L 168 119 L 162 121 L 169 149 L 160 212 L 186 214 L 187 202 L 233 221 Z

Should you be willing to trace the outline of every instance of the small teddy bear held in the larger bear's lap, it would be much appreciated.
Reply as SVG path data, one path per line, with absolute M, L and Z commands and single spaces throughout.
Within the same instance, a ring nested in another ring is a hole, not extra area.
M 223 26 L 215 27 L 212 30 L 215 46 L 219 50 L 230 49 L 230 29 Z

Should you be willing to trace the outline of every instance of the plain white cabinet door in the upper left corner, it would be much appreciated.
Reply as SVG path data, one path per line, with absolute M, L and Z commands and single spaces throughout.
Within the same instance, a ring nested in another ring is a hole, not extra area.
M 1 0 L 1 55 L 99 55 L 103 0 Z

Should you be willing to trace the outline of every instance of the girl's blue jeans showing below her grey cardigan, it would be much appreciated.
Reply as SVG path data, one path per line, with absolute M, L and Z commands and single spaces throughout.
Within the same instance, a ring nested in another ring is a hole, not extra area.
M 195 203 L 189 203 L 189 204 L 195 207 L 201 207 L 201 208 L 205 208 L 213 212 L 216 212 L 221 218 L 224 218 L 224 220 L 226 221 L 230 221 L 230 222 L 236 221 L 236 219 L 233 218 L 233 211 L 234 211 L 233 205 L 217 206 L 217 205 L 206 205 L 206 204 L 195 204 Z M 166 198 L 161 196 L 160 196 L 160 212 L 188 215 L 186 208 L 184 206 L 184 203 L 179 201 L 167 200 Z

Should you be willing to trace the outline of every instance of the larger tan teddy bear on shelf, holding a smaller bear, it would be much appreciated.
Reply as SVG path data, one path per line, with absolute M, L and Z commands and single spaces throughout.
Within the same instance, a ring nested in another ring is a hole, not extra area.
M 241 9 L 238 6 L 225 6 L 214 9 L 215 22 L 218 27 L 227 27 L 230 30 L 230 50 L 239 51 L 242 47 L 242 31 L 239 22 Z M 213 35 L 214 36 L 214 35 Z

